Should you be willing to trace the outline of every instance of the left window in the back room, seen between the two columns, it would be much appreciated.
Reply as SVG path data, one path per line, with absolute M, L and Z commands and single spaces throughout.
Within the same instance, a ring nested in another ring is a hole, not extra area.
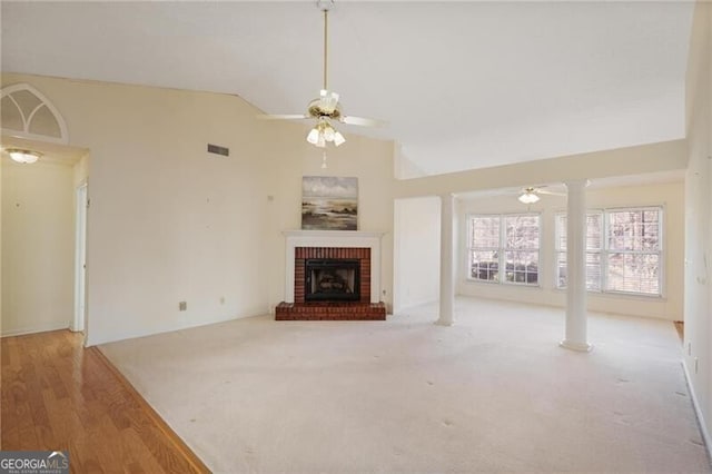
M 469 279 L 538 285 L 538 215 L 469 216 L 468 223 Z

